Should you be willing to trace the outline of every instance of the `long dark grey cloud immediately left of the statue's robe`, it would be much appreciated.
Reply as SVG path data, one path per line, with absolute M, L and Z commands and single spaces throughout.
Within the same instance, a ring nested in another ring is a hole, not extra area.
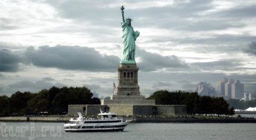
M 115 71 L 117 56 L 101 55 L 94 48 L 81 46 L 40 46 L 25 54 L 35 66 L 84 71 Z

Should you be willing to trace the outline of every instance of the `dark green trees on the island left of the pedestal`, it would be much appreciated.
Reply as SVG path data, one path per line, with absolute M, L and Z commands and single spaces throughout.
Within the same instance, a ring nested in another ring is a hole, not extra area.
M 68 112 L 69 104 L 100 104 L 100 99 L 92 96 L 86 87 L 53 86 L 35 94 L 18 91 L 11 97 L 0 96 L 0 115 L 35 115 L 39 112 L 63 114 Z

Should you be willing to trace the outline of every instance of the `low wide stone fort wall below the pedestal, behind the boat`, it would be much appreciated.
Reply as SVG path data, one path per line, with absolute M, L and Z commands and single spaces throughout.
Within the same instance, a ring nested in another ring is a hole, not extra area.
M 84 116 L 98 115 L 100 109 L 103 112 L 115 112 L 118 115 L 185 115 L 187 106 L 185 105 L 96 105 L 77 104 L 68 106 L 68 115 L 77 115 L 81 112 Z

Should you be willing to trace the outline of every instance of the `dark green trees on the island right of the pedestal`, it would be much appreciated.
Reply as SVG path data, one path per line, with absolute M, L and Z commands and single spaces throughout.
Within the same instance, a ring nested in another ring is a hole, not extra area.
M 161 105 L 187 105 L 188 114 L 234 115 L 234 107 L 229 108 L 223 97 L 200 96 L 197 92 L 156 91 L 147 99 Z

